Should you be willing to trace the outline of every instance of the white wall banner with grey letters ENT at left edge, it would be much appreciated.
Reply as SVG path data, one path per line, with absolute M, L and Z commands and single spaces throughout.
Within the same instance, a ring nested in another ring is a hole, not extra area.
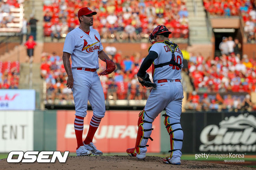
M 33 111 L 0 111 L 0 152 L 33 150 Z

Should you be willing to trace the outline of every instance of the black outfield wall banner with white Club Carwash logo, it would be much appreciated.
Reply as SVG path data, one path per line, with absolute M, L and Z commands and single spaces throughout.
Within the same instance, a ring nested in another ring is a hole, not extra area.
M 180 122 L 183 153 L 256 152 L 255 112 L 182 113 Z

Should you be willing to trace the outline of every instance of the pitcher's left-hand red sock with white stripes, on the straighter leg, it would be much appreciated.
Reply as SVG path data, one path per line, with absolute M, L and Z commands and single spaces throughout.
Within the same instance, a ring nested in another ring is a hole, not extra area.
M 74 121 L 74 128 L 76 133 L 77 148 L 83 146 L 83 119 L 84 117 L 76 116 Z

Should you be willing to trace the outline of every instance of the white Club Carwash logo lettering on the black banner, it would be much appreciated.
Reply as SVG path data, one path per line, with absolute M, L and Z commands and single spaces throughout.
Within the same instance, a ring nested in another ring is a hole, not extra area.
M 256 119 L 254 115 L 230 116 L 210 124 L 200 133 L 199 151 L 256 152 Z

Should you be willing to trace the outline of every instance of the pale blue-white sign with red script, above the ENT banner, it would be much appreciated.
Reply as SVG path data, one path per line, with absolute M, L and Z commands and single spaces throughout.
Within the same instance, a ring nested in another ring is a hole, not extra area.
M 0 90 L 0 110 L 35 110 L 35 90 Z

